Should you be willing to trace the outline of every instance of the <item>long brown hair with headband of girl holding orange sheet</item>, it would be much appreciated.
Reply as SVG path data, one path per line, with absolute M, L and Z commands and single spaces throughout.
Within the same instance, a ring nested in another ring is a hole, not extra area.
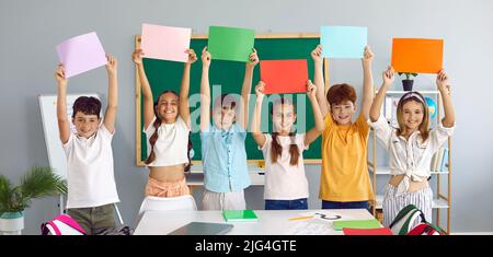
M 398 107 L 397 107 L 397 118 L 399 122 L 399 128 L 397 129 L 398 136 L 403 136 L 408 133 L 408 128 L 405 127 L 404 119 L 402 118 L 402 113 L 404 112 L 404 104 L 408 102 L 417 102 L 421 103 L 423 106 L 423 121 L 420 124 L 419 130 L 421 132 L 421 138 L 423 141 L 426 141 L 429 136 L 429 118 L 428 118 L 428 106 L 426 105 L 426 101 L 423 97 L 422 94 L 419 92 L 409 92 L 402 95 L 402 97 L 399 100 Z

